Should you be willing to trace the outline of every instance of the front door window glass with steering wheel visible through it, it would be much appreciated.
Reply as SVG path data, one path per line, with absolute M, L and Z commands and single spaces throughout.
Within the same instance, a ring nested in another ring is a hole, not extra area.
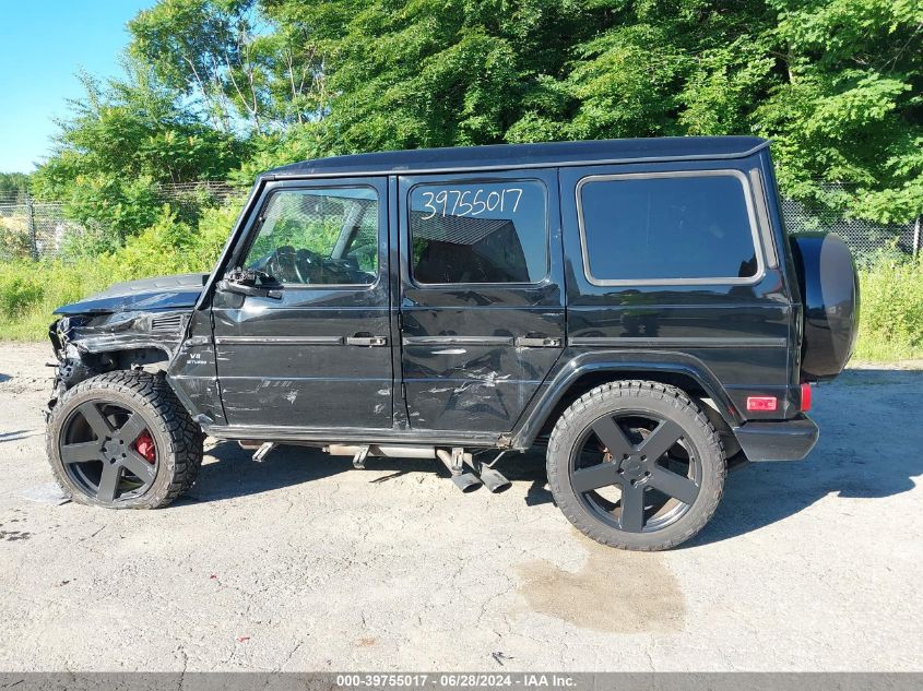
M 358 187 L 276 192 L 263 212 L 246 265 L 264 271 L 280 283 L 375 283 L 376 191 Z

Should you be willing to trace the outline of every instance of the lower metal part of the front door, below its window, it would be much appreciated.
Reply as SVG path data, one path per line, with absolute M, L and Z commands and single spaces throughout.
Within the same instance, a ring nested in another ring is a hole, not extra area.
M 359 332 L 387 334 L 387 310 L 271 307 L 267 320 L 259 307 L 215 309 L 228 424 L 390 426 L 390 348 L 346 344 Z

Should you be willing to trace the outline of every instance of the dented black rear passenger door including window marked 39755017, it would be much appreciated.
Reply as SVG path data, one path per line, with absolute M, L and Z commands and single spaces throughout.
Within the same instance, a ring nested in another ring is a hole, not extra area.
M 554 170 L 399 181 L 412 428 L 512 429 L 564 348 Z

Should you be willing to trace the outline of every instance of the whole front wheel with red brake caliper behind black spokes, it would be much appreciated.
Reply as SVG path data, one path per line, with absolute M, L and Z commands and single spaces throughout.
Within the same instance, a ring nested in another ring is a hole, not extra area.
M 48 458 L 83 504 L 155 509 L 191 487 L 202 434 L 163 377 L 115 371 L 68 391 L 48 421 Z

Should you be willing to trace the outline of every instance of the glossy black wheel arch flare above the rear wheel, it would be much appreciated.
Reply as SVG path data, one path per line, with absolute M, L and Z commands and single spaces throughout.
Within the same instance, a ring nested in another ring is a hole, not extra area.
M 535 439 L 554 427 L 560 414 L 588 391 L 620 379 L 655 381 L 682 389 L 697 398 L 710 398 L 705 406 L 721 427 L 733 429 L 742 424 L 736 407 L 708 367 L 683 353 L 584 353 L 568 357 L 560 371 L 553 373 L 526 410 L 511 438 L 516 449 L 528 449 Z

